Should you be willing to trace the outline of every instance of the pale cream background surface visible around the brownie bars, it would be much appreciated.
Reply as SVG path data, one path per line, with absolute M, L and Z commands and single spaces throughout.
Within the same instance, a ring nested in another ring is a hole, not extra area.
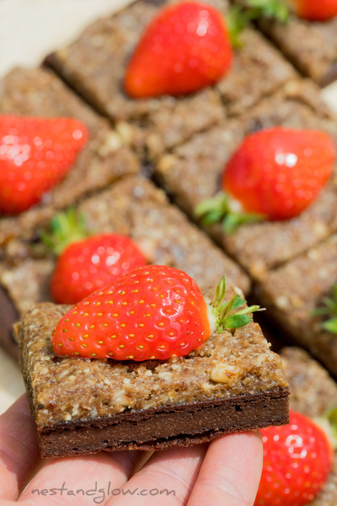
M 0 0 L 0 76 L 34 67 L 76 38 L 95 18 L 131 0 Z M 337 112 L 337 81 L 322 91 Z M 0 322 L 1 324 L 1 322 Z M 25 391 L 17 364 L 0 349 L 0 413 Z

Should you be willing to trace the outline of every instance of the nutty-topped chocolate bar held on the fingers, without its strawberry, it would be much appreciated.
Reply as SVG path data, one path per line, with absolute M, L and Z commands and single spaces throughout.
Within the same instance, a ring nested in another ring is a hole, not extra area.
M 69 308 L 36 305 L 16 327 L 42 457 L 159 450 L 287 423 L 281 361 L 256 323 L 215 332 L 185 357 L 82 360 L 51 346 Z

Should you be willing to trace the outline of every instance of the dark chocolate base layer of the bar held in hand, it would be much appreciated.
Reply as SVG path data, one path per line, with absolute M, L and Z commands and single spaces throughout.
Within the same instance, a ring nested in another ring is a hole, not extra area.
M 63 422 L 37 431 L 40 452 L 42 457 L 62 457 L 101 450 L 163 450 L 205 443 L 230 432 L 284 425 L 289 423 L 288 395 L 288 388 L 278 388 Z M 34 412 L 31 399 L 30 404 Z

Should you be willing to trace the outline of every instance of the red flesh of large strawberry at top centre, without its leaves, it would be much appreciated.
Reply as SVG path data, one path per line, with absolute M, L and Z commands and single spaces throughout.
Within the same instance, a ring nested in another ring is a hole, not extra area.
M 134 98 L 193 93 L 229 70 L 232 50 L 221 14 L 206 4 L 162 9 L 143 34 L 124 78 Z

